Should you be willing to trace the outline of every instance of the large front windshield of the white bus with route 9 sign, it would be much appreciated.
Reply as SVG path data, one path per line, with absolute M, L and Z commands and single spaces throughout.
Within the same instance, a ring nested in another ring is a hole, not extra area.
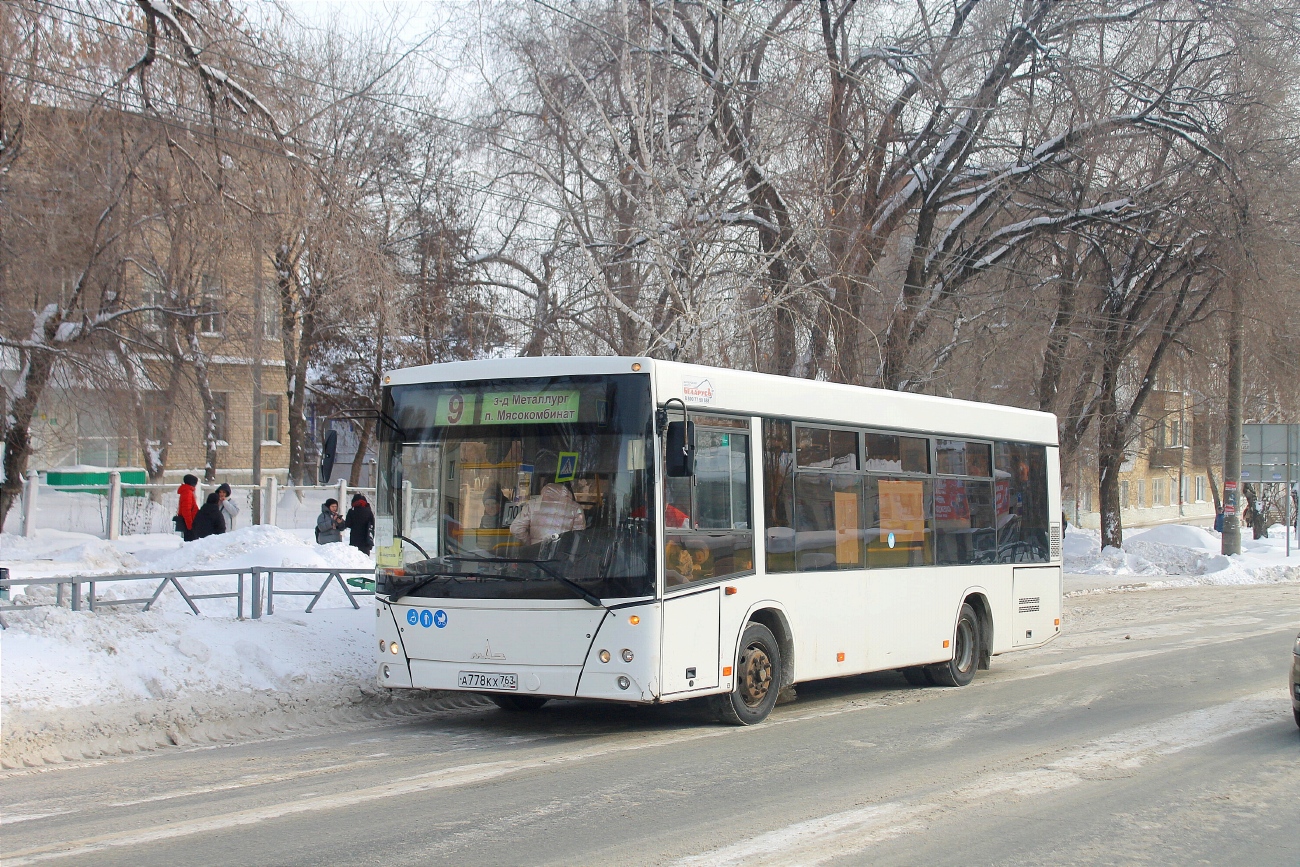
M 390 598 L 654 594 L 647 376 L 393 386 L 384 412 Z

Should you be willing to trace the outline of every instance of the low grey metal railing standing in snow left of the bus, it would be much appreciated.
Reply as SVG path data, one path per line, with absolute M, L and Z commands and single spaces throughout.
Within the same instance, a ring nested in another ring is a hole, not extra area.
M 316 590 L 276 590 L 276 576 L 277 575 L 325 575 L 325 581 Z M 195 615 L 202 615 L 199 611 L 198 602 L 205 599 L 234 599 L 235 601 L 235 616 L 239 620 L 244 619 L 244 599 L 248 599 L 248 616 L 254 620 L 260 620 L 263 611 L 270 615 L 276 612 L 274 599 L 280 597 L 311 597 L 311 602 L 307 604 L 306 614 L 311 614 L 316 604 L 329 590 L 330 585 L 338 582 L 338 586 L 343 590 L 347 601 L 352 604 L 352 608 L 360 608 L 361 606 L 356 602 L 358 597 L 372 597 L 374 595 L 373 589 L 365 589 L 356 585 L 348 586 L 343 576 L 365 576 L 374 577 L 373 569 L 334 569 L 334 568 L 313 568 L 313 567 L 254 567 L 247 569 L 191 569 L 186 572 L 139 572 L 139 573 L 126 573 L 126 575 L 96 575 L 96 576 L 61 576 L 52 578 L 10 578 L 8 577 L 8 571 L 0 571 L 0 629 L 6 628 L 3 615 L 9 611 L 29 611 L 31 608 L 43 608 L 62 606 L 65 597 L 68 604 L 73 611 L 81 611 L 84 607 L 90 611 L 98 611 L 99 608 L 108 608 L 125 604 L 139 604 L 143 606 L 143 611 L 148 611 L 162 595 L 162 591 L 168 586 L 173 588 L 177 594 L 185 601 Z M 182 580 L 190 578 L 213 578 L 213 577 L 229 577 L 234 580 L 234 589 L 225 593 L 194 593 L 182 584 Z M 265 581 L 263 581 L 265 578 Z M 101 597 L 99 588 L 105 584 L 120 584 L 120 582 L 156 582 L 150 586 L 153 591 L 150 595 L 139 595 L 130 598 L 109 598 Z M 23 602 L 29 597 L 23 594 L 20 599 L 9 598 L 12 595 L 10 590 L 13 588 L 31 588 L 31 586 L 53 586 L 55 598 L 52 601 L 36 601 L 36 602 Z M 248 590 L 246 593 L 244 590 Z M 66 589 L 66 593 L 65 593 Z

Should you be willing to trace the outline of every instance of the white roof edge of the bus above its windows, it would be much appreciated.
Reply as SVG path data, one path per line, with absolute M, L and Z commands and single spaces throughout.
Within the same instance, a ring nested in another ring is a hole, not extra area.
M 640 372 L 653 377 L 656 403 L 679 398 L 693 412 L 740 412 L 862 428 L 1057 443 L 1056 416 L 1048 412 L 647 357 L 543 356 L 451 361 L 390 370 L 384 382 L 416 385 L 534 376 L 601 376 L 633 373 L 633 365 L 640 365 Z

